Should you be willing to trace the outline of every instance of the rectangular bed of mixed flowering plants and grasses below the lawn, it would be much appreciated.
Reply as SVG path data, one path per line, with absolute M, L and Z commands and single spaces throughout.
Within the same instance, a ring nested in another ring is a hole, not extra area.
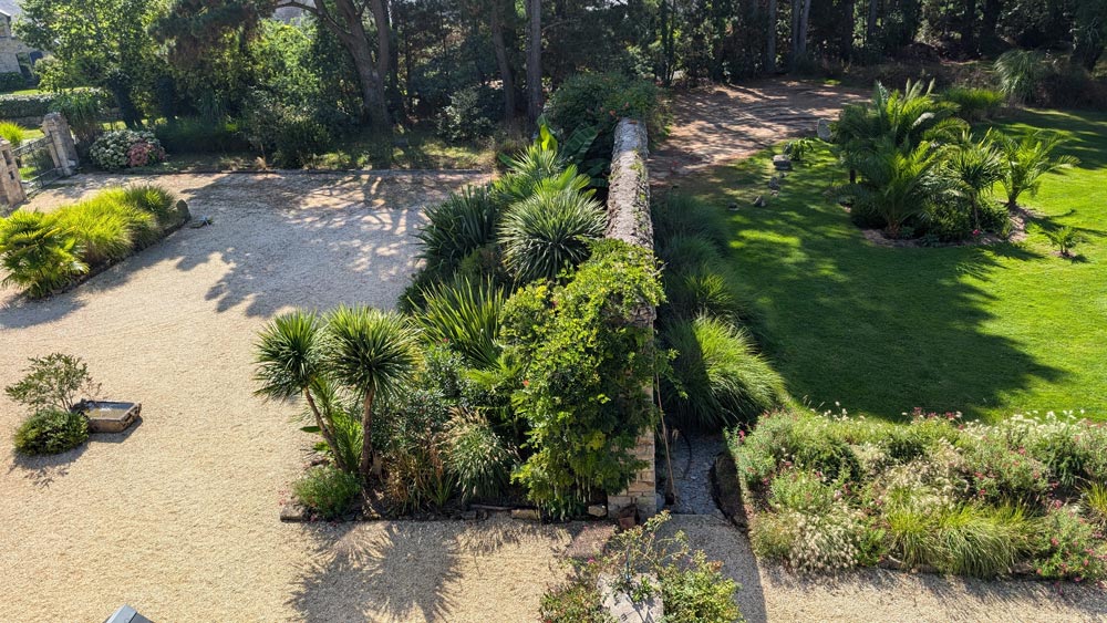
M 1107 427 L 1076 414 L 985 425 L 917 411 L 902 425 L 793 411 L 730 443 L 754 550 L 798 571 L 1107 580 Z

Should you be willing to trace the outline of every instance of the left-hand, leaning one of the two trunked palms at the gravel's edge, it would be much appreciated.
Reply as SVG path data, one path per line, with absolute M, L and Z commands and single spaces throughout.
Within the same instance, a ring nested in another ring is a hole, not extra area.
M 350 471 L 334 435 L 329 397 L 333 393 L 324 375 L 322 322 L 312 312 L 293 311 L 275 318 L 259 335 L 254 380 L 260 384 L 255 395 L 270 401 L 303 397 L 320 435 L 331 447 L 334 465 Z M 321 401 L 322 408 L 317 396 Z

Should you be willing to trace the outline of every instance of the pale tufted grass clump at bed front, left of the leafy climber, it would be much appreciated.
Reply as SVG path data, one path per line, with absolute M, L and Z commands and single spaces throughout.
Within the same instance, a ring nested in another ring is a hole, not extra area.
M 457 477 L 463 497 L 498 496 L 514 464 L 514 453 L 485 416 L 466 409 L 454 412 L 446 425 L 446 467 Z

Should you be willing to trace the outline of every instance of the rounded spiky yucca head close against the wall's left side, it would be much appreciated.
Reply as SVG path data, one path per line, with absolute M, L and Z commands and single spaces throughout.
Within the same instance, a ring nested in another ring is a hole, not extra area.
M 519 282 L 554 279 L 588 258 L 589 242 L 606 227 L 607 212 L 587 195 L 571 189 L 531 195 L 504 215 L 504 263 Z

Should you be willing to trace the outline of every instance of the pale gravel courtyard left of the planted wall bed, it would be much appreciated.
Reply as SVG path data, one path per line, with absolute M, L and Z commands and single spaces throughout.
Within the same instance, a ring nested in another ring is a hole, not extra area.
M 80 354 L 104 397 L 143 403 L 128 433 L 17 459 L 0 396 L 6 621 L 531 620 L 572 527 L 505 521 L 283 525 L 311 438 L 252 395 L 251 344 L 293 305 L 391 307 L 421 206 L 479 177 L 172 176 L 215 221 L 44 302 L 0 290 L 0 384 L 28 356 Z M 102 177 L 43 194 L 45 207 Z

